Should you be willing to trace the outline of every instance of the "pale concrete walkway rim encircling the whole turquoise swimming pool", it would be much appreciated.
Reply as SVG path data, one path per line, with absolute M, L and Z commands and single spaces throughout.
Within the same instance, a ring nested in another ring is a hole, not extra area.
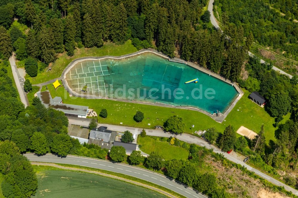
M 195 107 L 189 107 L 189 106 L 173 106 L 173 105 L 169 105 L 169 104 L 165 104 L 165 103 L 159 103 L 159 102 L 155 102 L 155 103 L 147 103 L 147 102 L 140 102 L 140 101 L 131 101 L 131 100 L 123 100 L 123 99 L 114 99 L 114 98 L 107 98 L 107 97 L 101 97 L 101 96 L 95 96 L 95 95 L 82 95 L 82 94 L 79 94 L 75 91 L 73 91 L 67 81 L 66 81 L 66 73 L 68 73 L 70 71 L 70 69 L 78 62 L 81 62 L 83 60 L 101 60 L 101 59 L 123 59 L 123 58 L 128 58 L 128 57 L 132 57 L 132 56 L 136 56 L 136 55 L 140 55 L 140 54 L 143 54 L 143 53 L 153 53 L 153 54 L 156 54 L 157 56 L 160 56 L 164 59 L 167 59 L 171 62 L 179 62 L 179 63 L 182 63 L 182 64 L 185 64 L 185 65 L 188 65 L 189 67 L 192 67 L 196 70 L 199 70 L 203 73 L 206 73 L 208 74 L 209 76 L 212 76 L 214 78 L 217 78 L 227 84 L 230 84 L 231 86 L 234 86 L 236 91 L 238 92 L 238 97 L 234 99 L 234 101 L 232 102 L 232 104 L 229 106 L 229 108 L 224 112 L 224 113 L 220 113 L 218 115 L 218 117 L 216 116 L 215 113 L 213 114 L 210 114 L 209 112 L 207 111 L 203 111 L 201 109 L 198 109 L 198 108 L 195 108 Z M 182 59 L 179 59 L 179 58 L 174 58 L 174 59 L 170 59 L 168 56 L 162 54 L 161 52 L 158 52 L 154 49 L 143 49 L 143 50 L 140 50 L 140 51 L 137 51 L 137 52 L 134 52 L 134 53 L 131 53 L 131 54 L 127 54 L 127 55 L 122 55 L 122 56 L 100 56 L 100 57 L 97 57 L 97 56 L 91 56 L 91 57 L 83 57 L 83 58 L 78 58 L 78 59 L 75 59 L 73 60 L 71 63 L 69 63 L 69 65 L 67 65 L 67 67 L 63 70 L 62 72 L 62 75 L 61 75 L 61 80 L 62 80 L 62 84 L 63 86 L 65 87 L 65 89 L 67 90 L 67 92 L 69 92 L 69 94 L 73 95 L 73 96 L 76 96 L 76 97 L 81 97 L 81 98 L 86 98 L 86 99 L 108 99 L 108 100 L 115 100 L 115 101 L 122 101 L 122 102 L 128 102 L 128 103 L 138 103 L 138 104 L 147 104 L 147 105 L 154 105 L 154 106 L 162 106 L 162 107 L 170 107 L 170 108 L 177 108 L 177 109 L 189 109 L 189 110 L 193 110 L 193 111 L 199 111 L 203 114 L 206 114 L 208 115 L 209 117 L 211 117 L 213 120 L 217 121 L 217 122 L 223 122 L 224 119 L 226 118 L 226 116 L 229 114 L 229 112 L 233 109 L 233 107 L 235 106 L 235 104 L 238 102 L 238 100 L 240 100 L 240 98 L 242 97 L 243 95 L 243 92 L 242 90 L 238 87 L 237 84 L 234 84 L 233 82 L 229 81 L 228 79 L 224 79 L 224 77 L 216 74 L 216 73 L 213 73 L 212 71 L 204 68 L 204 67 L 201 67 L 199 65 L 196 65 L 195 63 L 193 62 L 186 62 Z

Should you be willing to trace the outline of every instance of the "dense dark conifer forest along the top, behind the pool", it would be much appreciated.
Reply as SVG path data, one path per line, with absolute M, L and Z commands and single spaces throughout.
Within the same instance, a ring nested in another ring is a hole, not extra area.
M 1 1 L 0 53 L 12 49 L 19 60 L 27 57 L 49 64 L 57 54 L 74 55 L 78 46 L 101 47 L 104 42 L 131 39 L 137 48 L 156 47 L 170 57 L 197 62 L 236 81 L 252 39 L 231 29 L 229 39 L 209 24 L 205 0 L 83 0 Z M 5 16 L 5 17 L 4 17 Z M 30 27 L 24 35 L 14 18 Z M 231 27 L 232 28 L 232 27 Z

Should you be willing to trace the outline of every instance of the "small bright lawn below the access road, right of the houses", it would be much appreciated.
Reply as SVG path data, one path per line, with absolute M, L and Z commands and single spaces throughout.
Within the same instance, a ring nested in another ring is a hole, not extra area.
M 138 144 L 141 144 L 144 153 L 150 154 L 152 151 L 159 151 L 165 160 L 184 159 L 188 158 L 188 150 L 170 145 L 168 142 L 161 142 L 150 137 L 138 136 Z

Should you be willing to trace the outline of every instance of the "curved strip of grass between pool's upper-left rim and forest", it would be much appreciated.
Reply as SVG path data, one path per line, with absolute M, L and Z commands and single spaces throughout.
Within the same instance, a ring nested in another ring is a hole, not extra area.
M 61 76 L 65 67 L 74 59 L 86 56 L 121 56 L 136 52 L 137 49 L 131 44 L 131 40 L 126 41 L 123 45 L 116 45 L 114 43 L 105 43 L 101 48 L 78 48 L 75 50 L 75 55 L 70 57 L 64 52 L 51 65 L 52 70 L 48 72 L 38 73 L 36 77 L 26 75 L 26 79 L 30 79 L 32 84 L 39 84 Z M 21 66 L 21 65 L 19 65 Z

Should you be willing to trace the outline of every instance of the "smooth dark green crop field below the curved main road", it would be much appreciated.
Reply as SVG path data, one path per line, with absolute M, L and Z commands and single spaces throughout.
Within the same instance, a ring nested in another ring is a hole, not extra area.
M 166 197 L 152 190 L 99 175 L 34 166 L 38 176 L 35 197 Z

